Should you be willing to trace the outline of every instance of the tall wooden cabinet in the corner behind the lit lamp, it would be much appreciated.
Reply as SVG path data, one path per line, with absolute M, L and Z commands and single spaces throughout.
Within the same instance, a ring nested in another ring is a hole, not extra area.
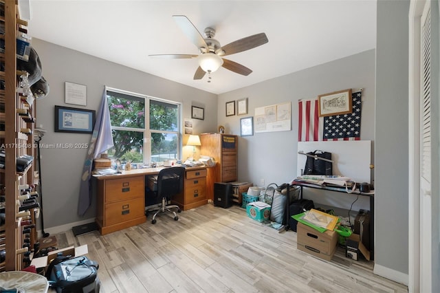
M 200 135 L 200 153 L 217 162 L 208 170 L 208 199 L 214 198 L 214 182 L 233 182 L 238 179 L 238 136 L 223 133 Z

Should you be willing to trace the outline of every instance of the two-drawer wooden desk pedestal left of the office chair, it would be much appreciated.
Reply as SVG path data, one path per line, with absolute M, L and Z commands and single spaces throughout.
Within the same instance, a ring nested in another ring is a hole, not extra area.
M 96 223 L 102 235 L 144 223 L 145 176 L 96 177 Z

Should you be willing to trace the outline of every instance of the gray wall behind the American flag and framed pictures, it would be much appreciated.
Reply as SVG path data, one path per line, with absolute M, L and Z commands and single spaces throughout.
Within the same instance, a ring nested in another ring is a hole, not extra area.
M 254 109 L 292 102 L 292 130 L 254 133 L 239 138 L 239 180 L 265 185 L 289 182 L 296 177 L 298 100 L 341 89 L 363 88 L 362 140 L 374 140 L 375 51 L 311 67 L 219 95 L 218 120 L 226 133 L 240 135 L 240 118 L 253 116 Z M 248 115 L 225 116 L 225 102 L 248 98 Z

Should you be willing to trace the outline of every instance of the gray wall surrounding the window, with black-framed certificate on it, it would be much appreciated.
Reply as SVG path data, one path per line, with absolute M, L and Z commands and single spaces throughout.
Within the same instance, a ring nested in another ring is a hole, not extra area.
M 195 133 L 217 128 L 217 95 L 164 78 L 145 74 L 65 47 L 32 39 L 43 64 L 50 94 L 36 102 L 36 126 L 47 130 L 44 144 L 89 143 L 90 134 L 54 132 L 54 106 L 98 110 L 104 86 L 182 103 L 183 117 L 191 105 L 205 108 L 205 120 L 193 120 Z M 65 104 L 65 82 L 87 86 L 87 107 Z M 78 194 L 87 149 L 41 149 L 41 179 L 45 228 L 94 219 L 96 200 L 84 215 L 77 215 Z

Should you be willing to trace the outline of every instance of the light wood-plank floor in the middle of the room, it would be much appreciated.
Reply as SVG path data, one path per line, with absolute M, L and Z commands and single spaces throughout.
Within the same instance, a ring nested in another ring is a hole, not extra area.
M 278 233 L 239 206 L 171 216 L 104 236 L 69 230 L 56 235 L 58 248 L 87 244 L 100 292 L 408 292 L 342 248 L 331 261 L 297 250 L 296 232 Z

